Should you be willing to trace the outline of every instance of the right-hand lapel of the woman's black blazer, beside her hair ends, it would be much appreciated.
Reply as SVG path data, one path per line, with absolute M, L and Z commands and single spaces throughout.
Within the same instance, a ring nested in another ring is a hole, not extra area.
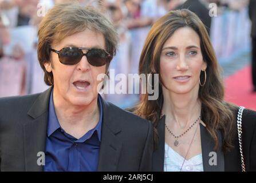
M 207 129 L 200 124 L 200 136 L 202 145 L 202 157 L 203 157 L 203 170 L 204 172 L 223 172 L 225 171 L 224 154 L 221 150 L 222 137 L 220 131 L 218 131 L 219 149 L 214 151 L 214 141 L 207 132 Z M 213 158 L 216 158 L 216 164 Z

